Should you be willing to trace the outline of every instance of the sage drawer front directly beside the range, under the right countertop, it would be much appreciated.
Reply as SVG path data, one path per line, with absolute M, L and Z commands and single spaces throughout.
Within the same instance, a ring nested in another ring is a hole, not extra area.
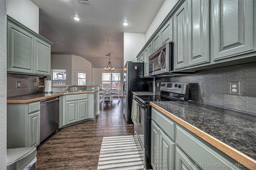
M 154 120 L 172 140 L 175 140 L 175 123 L 171 121 L 170 118 L 152 108 L 152 120 Z

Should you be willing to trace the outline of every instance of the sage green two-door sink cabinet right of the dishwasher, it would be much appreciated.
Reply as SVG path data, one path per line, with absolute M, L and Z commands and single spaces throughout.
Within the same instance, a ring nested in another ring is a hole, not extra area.
M 80 123 L 88 119 L 93 120 L 96 113 L 94 104 L 94 93 L 64 95 L 62 105 L 63 126 Z

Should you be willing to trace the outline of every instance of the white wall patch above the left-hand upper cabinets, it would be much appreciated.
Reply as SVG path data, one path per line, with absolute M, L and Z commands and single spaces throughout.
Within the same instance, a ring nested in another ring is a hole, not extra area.
M 31 0 L 7 0 L 7 14 L 39 33 L 39 8 Z

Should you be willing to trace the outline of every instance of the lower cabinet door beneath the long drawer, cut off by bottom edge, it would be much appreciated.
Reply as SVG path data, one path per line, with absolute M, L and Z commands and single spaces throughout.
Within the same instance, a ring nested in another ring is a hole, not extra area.
M 199 170 L 192 160 L 178 147 L 176 147 L 176 170 Z

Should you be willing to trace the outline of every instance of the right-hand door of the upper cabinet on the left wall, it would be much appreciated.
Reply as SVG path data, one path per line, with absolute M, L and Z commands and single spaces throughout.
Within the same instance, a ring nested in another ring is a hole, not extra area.
M 51 46 L 35 38 L 35 73 L 50 75 Z

